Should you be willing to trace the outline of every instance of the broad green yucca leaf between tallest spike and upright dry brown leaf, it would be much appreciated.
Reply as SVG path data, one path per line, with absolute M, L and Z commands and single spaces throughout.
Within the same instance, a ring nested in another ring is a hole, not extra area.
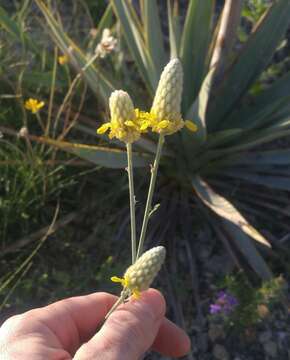
M 186 74 L 182 100 L 185 110 L 196 98 L 205 75 L 213 5 L 213 0 L 192 0 L 188 4 L 180 47 L 180 58 Z

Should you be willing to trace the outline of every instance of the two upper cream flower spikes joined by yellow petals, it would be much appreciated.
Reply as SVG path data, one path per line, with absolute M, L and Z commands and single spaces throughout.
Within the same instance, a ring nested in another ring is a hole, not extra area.
M 114 91 L 109 100 L 111 121 L 103 124 L 97 133 L 104 134 L 110 130 L 110 139 L 115 137 L 125 143 L 132 143 L 149 129 L 171 135 L 185 125 L 190 131 L 197 131 L 191 121 L 184 122 L 181 116 L 182 84 L 180 60 L 173 59 L 161 74 L 150 112 L 134 109 L 133 102 L 125 91 Z

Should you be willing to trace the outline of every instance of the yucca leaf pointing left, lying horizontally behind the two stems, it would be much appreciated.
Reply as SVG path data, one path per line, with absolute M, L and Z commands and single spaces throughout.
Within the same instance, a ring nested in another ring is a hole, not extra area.
M 68 153 L 74 154 L 96 165 L 112 169 L 124 169 L 127 166 L 127 153 L 125 150 L 112 149 L 104 146 L 69 143 L 37 136 L 33 136 L 33 140 L 67 151 Z M 150 161 L 152 161 L 152 158 L 146 154 L 133 153 L 133 164 L 135 167 L 148 166 Z

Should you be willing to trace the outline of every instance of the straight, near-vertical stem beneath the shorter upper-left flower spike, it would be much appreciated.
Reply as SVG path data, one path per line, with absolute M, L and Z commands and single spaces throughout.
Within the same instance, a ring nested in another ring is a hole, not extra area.
M 136 218 L 135 218 L 135 195 L 134 195 L 134 178 L 133 178 L 133 160 L 132 144 L 127 144 L 128 158 L 128 178 L 129 178 L 129 198 L 130 198 L 130 217 L 131 217 L 131 247 L 132 247 L 132 264 L 136 261 Z

